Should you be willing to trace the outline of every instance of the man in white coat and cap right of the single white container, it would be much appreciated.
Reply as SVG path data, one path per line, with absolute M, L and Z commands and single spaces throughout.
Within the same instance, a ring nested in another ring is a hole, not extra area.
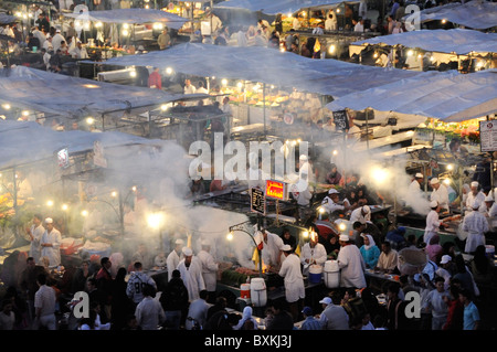
M 338 238 L 340 250 L 337 263 L 340 268 L 340 287 L 342 288 L 364 288 L 366 285 L 366 263 L 359 248 L 350 241 L 349 235 L 340 235 Z

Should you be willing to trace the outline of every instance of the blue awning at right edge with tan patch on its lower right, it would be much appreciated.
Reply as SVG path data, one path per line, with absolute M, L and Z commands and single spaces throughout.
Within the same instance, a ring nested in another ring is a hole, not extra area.
M 458 122 L 497 113 L 497 70 L 425 72 L 329 103 L 330 110 L 372 108 Z

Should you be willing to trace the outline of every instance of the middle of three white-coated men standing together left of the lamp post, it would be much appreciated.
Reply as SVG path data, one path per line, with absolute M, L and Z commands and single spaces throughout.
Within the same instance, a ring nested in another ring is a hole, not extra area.
M 177 269 L 181 274 L 184 286 L 188 289 L 188 299 L 190 302 L 198 299 L 201 290 L 205 290 L 205 281 L 202 277 L 202 265 L 198 258 L 193 258 L 193 250 L 189 247 L 182 249 L 184 258 L 180 260 Z

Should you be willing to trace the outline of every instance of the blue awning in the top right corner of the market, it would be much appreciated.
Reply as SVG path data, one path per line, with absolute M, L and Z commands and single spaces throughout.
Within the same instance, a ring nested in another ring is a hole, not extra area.
M 446 20 L 475 30 L 490 29 L 497 25 L 497 2 L 485 0 L 450 2 L 420 12 L 421 23 L 435 20 Z

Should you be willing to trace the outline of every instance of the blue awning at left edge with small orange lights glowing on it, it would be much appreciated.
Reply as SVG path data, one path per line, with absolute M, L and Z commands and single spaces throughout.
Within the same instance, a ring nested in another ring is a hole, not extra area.
M 139 113 L 192 97 L 18 66 L 0 70 L 0 102 L 20 109 L 81 118 L 112 111 Z

